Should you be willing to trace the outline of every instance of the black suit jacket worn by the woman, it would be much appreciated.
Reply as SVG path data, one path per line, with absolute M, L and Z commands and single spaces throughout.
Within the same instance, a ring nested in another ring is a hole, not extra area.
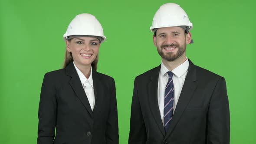
M 65 69 L 46 73 L 39 102 L 37 144 L 118 144 L 115 81 L 95 70 L 92 79 L 93 111 L 73 62 Z

